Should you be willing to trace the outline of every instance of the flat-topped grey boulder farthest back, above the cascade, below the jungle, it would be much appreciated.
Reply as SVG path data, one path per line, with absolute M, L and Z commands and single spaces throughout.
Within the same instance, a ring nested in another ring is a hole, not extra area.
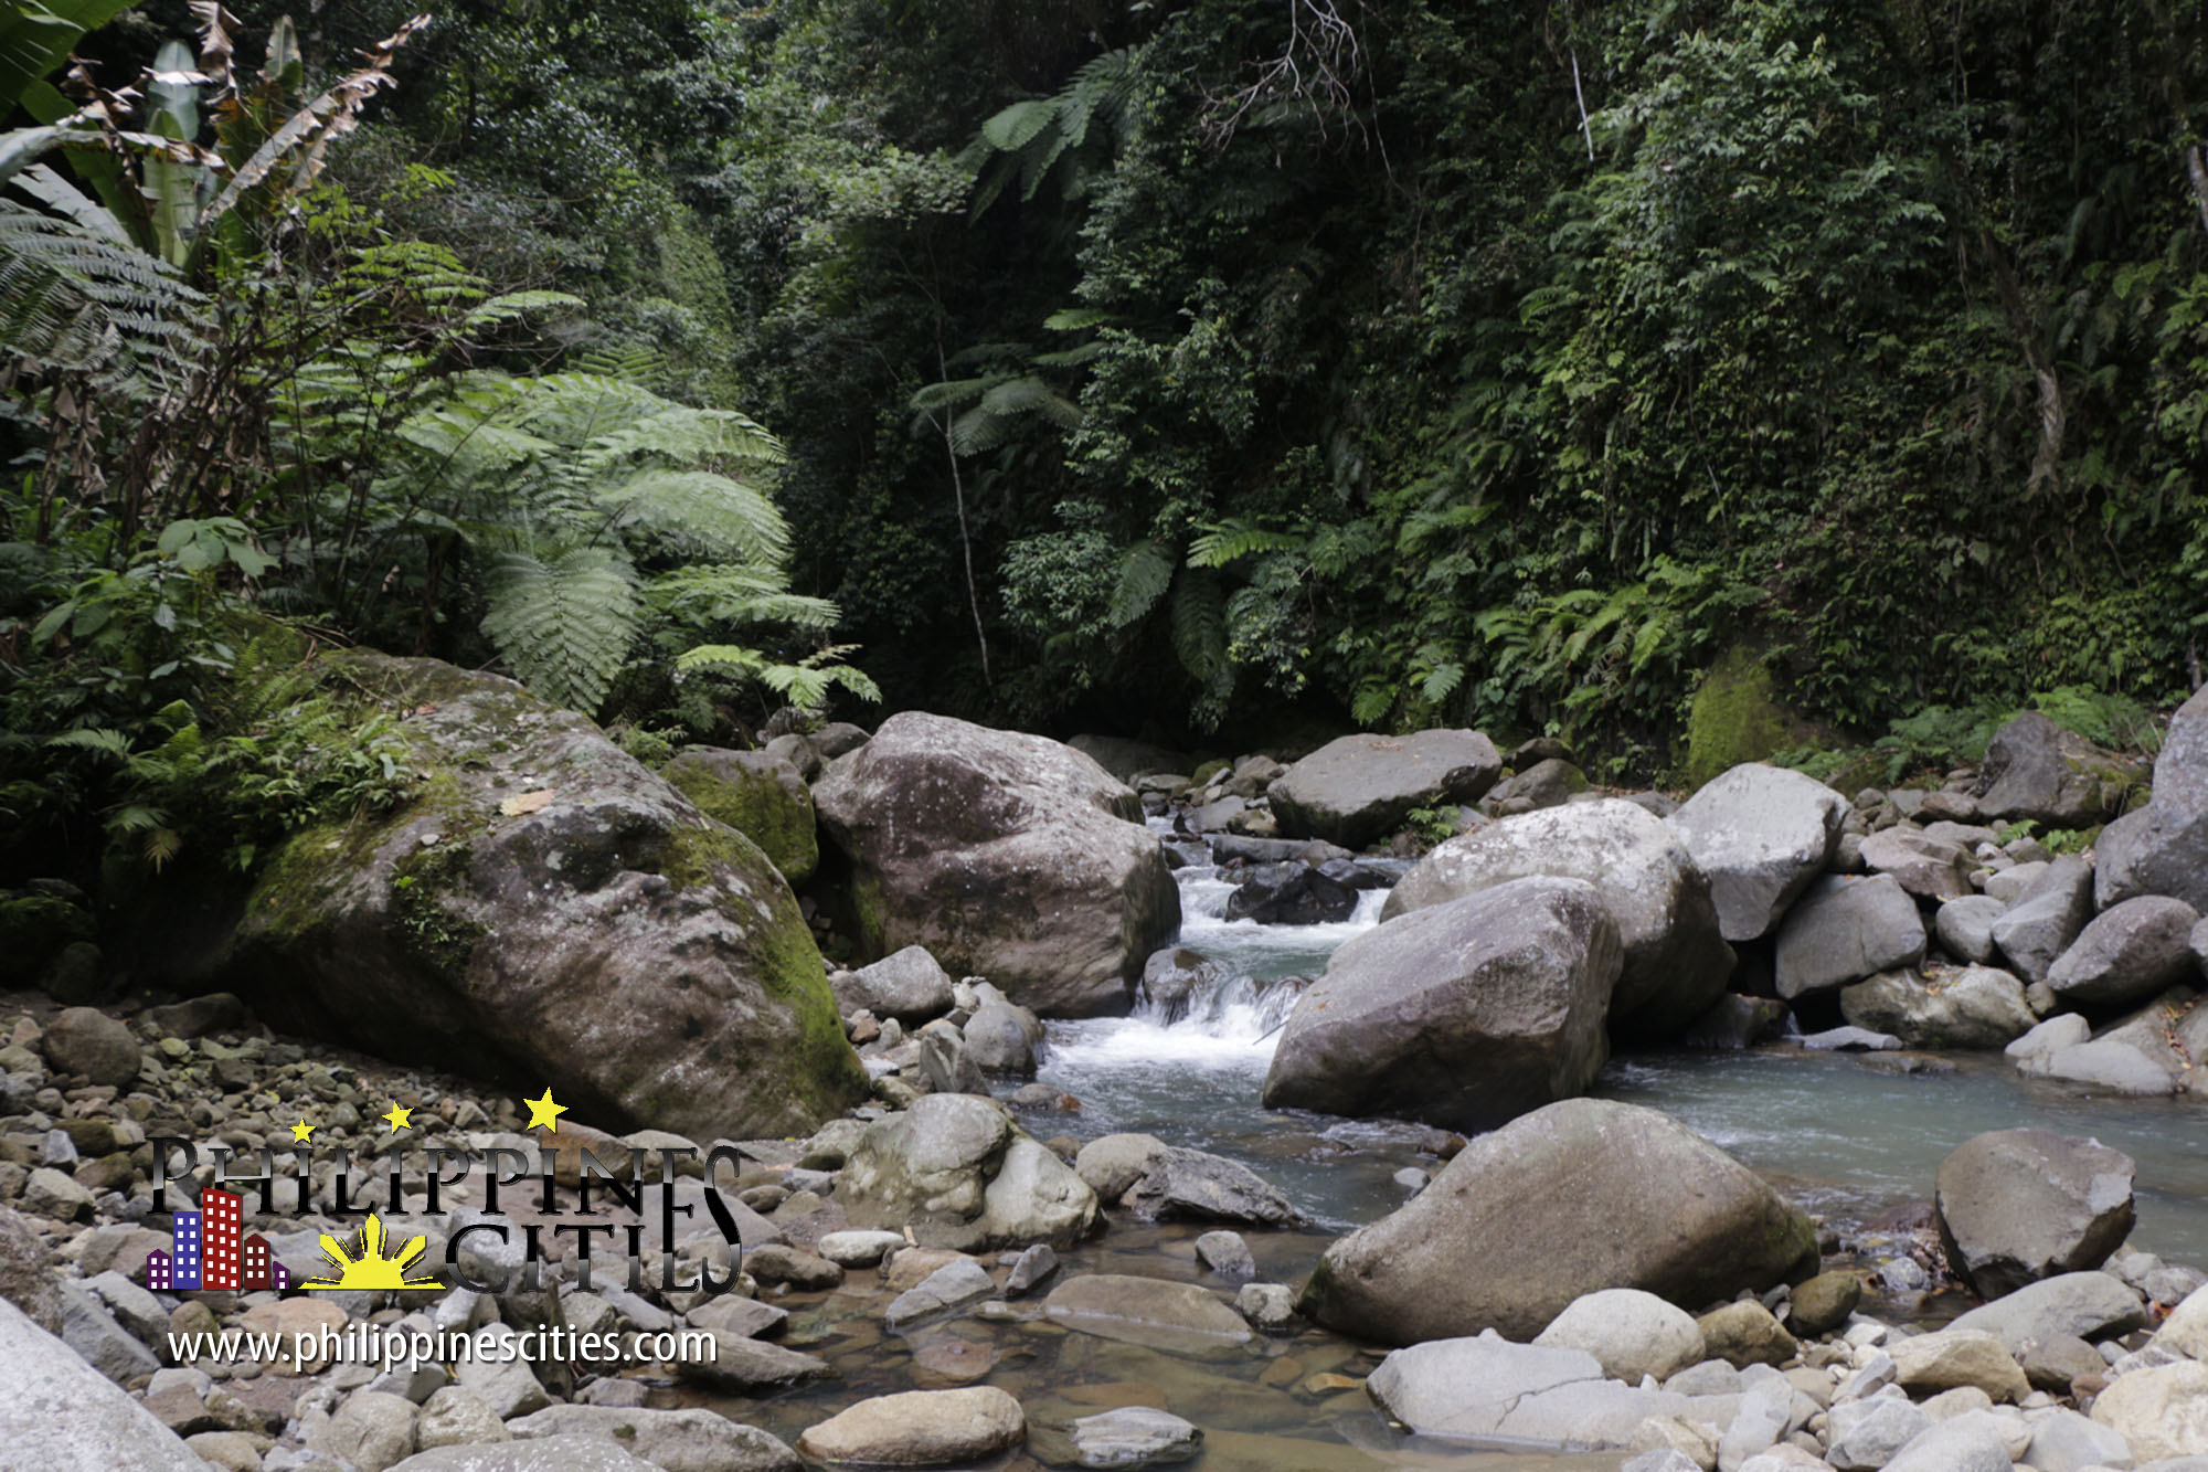
M 1479 732 L 1340 736 L 1274 778 L 1272 816 L 1289 838 L 1362 849 L 1418 807 L 1477 802 L 1504 758 Z

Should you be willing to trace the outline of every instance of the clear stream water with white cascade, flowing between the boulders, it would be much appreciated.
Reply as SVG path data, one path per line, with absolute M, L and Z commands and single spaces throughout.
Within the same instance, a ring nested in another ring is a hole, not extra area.
M 1259 1273 L 1296 1282 L 1340 1231 L 1404 1200 L 1393 1174 L 1437 1169 L 1420 1154 L 1415 1125 L 1342 1121 L 1265 1110 L 1259 1094 L 1276 1028 L 1294 1006 L 1287 977 L 1316 977 L 1351 935 L 1378 924 L 1384 891 L 1367 891 L 1356 915 L 1323 926 L 1228 922 L 1232 889 L 1201 844 L 1175 844 L 1181 946 L 1225 972 L 1190 999 L 1183 1017 L 1053 1021 L 1040 1079 L 1080 1101 L 1078 1114 L 1025 1112 L 1036 1136 L 1093 1138 L 1115 1129 L 1157 1134 L 1243 1160 L 1309 1218 L 1292 1231 L 1250 1231 Z M 1954 1056 L 1945 1072 L 1877 1072 L 1859 1056 L 1793 1048 L 1749 1054 L 1630 1054 L 1610 1063 L 1594 1092 L 1676 1114 L 1762 1171 L 1815 1216 L 1841 1227 L 1932 1194 L 1941 1158 L 1972 1134 L 2042 1125 L 2095 1136 L 2140 1163 L 2133 1240 L 2177 1262 L 2208 1264 L 2208 1107 L 2177 1101 L 2093 1098 L 2023 1079 L 1998 1056 Z M 1069 1273 L 1142 1273 L 1228 1286 L 1195 1260 L 1201 1224 L 1113 1222 L 1093 1244 L 1062 1253 Z M 1320 1331 L 1265 1339 L 1248 1355 L 1181 1359 L 1133 1344 L 1066 1333 L 1036 1300 L 1009 1319 L 958 1317 L 910 1335 L 881 1328 L 881 1297 L 854 1273 L 850 1293 L 793 1295 L 793 1348 L 824 1355 L 837 1377 L 753 1399 L 707 1399 L 786 1441 L 863 1395 L 994 1384 L 1029 1415 L 1027 1448 L 978 1463 L 991 1472 L 1071 1465 L 1053 1430 L 1111 1406 L 1161 1406 L 1206 1432 L 1197 1472 L 1358 1472 L 1453 1468 L 1457 1472 L 1614 1472 L 1625 1457 L 1464 1448 L 1402 1437 L 1349 1388 L 1378 1353 Z M 1886 1304 L 1908 1313 L 1908 1304 Z M 1323 1377 L 1349 1377 L 1329 1384 Z M 696 1397 L 673 1392 L 678 1399 Z

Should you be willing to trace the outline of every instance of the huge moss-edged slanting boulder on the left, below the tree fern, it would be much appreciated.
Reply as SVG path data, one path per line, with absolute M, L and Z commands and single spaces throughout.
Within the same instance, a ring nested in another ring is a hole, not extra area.
M 757 844 L 512 681 L 322 665 L 426 778 L 296 833 L 254 886 L 225 981 L 267 1023 L 698 1140 L 810 1134 L 866 1096 Z

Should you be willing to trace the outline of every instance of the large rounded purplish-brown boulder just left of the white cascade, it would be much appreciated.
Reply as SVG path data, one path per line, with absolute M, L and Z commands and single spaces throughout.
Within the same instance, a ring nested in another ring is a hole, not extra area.
M 1135 793 L 1055 740 L 907 709 L 813 800 L 868 953 L 927 946 L 1044 1017 L 1126 1010 L 1181 926 Z

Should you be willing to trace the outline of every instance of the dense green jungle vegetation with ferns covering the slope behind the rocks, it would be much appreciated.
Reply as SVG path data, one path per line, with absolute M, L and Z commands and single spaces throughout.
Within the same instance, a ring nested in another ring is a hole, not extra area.
M 24 849 L 380 800 L 267 619 L 645 756 L 2199 683 L 2199 0 L 413 9 L 0 13 Z

